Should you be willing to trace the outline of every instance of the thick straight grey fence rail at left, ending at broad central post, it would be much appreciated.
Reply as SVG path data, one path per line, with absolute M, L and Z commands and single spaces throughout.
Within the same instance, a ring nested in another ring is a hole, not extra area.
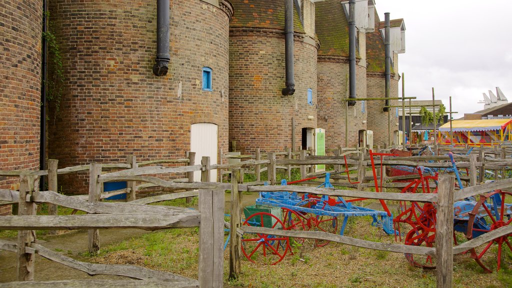
M 199 213 L 183 211 L 176 215 L 155 214 L 87 214 L 65 216 L 2 216 L 0 230 L 77 230 L 103 228 L 137 228 L 160 230 L 199 225 Z M 18 232 L 19 234 L 19 232 Z

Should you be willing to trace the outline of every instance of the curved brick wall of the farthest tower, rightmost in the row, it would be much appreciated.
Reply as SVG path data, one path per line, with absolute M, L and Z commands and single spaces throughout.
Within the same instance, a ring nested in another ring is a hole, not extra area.
M 367 97 L 385 97 L 386 82 L 384 74 L 369 73 L 367 76 Z M 390 96 L 398 97 L 398 76 L 391 78 Z M 398 100 L 391 100 L 391 105 L 398 105 Z M 385 100 L 368 101 L 368 130 L 373 130 L 373 146 L 381 147 L 388 144 L 388 113 L 382 111 Z M 393 131 L 398 130 L 398 117 L 396 108 L 390 109 L 391 113 L 391 142 L 393 143 Z

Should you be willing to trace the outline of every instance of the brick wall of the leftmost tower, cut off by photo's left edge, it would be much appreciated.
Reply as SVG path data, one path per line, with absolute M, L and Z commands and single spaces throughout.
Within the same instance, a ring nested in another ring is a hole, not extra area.
M 39 167 L 41 17 L 41 0 L 0 2 L 0 170 Z M 0 177 L 2 189 L 17 183 Z

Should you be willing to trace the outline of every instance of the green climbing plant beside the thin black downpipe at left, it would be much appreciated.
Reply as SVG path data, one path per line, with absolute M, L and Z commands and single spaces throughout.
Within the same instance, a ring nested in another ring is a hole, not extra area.
M 50 19 L 49 12 L 46 12 L 45 16 L 47 19 Z M 46 99 L 48 103 L 52 103 L 55 108 L 55 119 L 60 110 L 60 100 L 62 99 L 64 85 L 64 72 L 62 69 L 62 54 L 57 43 L 57 38 L 55 37 L 51 22 L 48 21 L 48 24 L 47 31 L 42 32 L 42 38 L 46 40 L 48 45 L 48 64 L 49 67 L 51 67 L 51 73 L 49 73 L 49 76 L 46 79 Z

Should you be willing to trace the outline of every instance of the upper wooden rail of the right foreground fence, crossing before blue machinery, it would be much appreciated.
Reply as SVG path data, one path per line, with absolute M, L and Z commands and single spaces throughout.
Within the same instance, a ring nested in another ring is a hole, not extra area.
M 345 184 L 345 183 L 344 183 Z M 276 191 L 289 191 L 299 193 L 310 193 L 319 195 L 329 196 L 343 196 L 343 197 L 355 197 L 355 198 L 369 198 L 369 199 L 386 199 L 386 200 L 397 200 L 397 201 L 418 201 L 418 202 L 437 202 L 437 195 L 433 193 L 424 194 L 409 194 L 409 193 L 376 193 L 368 191 L 353 191 L 353 190 L 340 190 L 340 189 L 326 189 L 326 188 L 312 188 L 304 186 L 250 186 L 247 187 L 249 192 L 276 192 Z

